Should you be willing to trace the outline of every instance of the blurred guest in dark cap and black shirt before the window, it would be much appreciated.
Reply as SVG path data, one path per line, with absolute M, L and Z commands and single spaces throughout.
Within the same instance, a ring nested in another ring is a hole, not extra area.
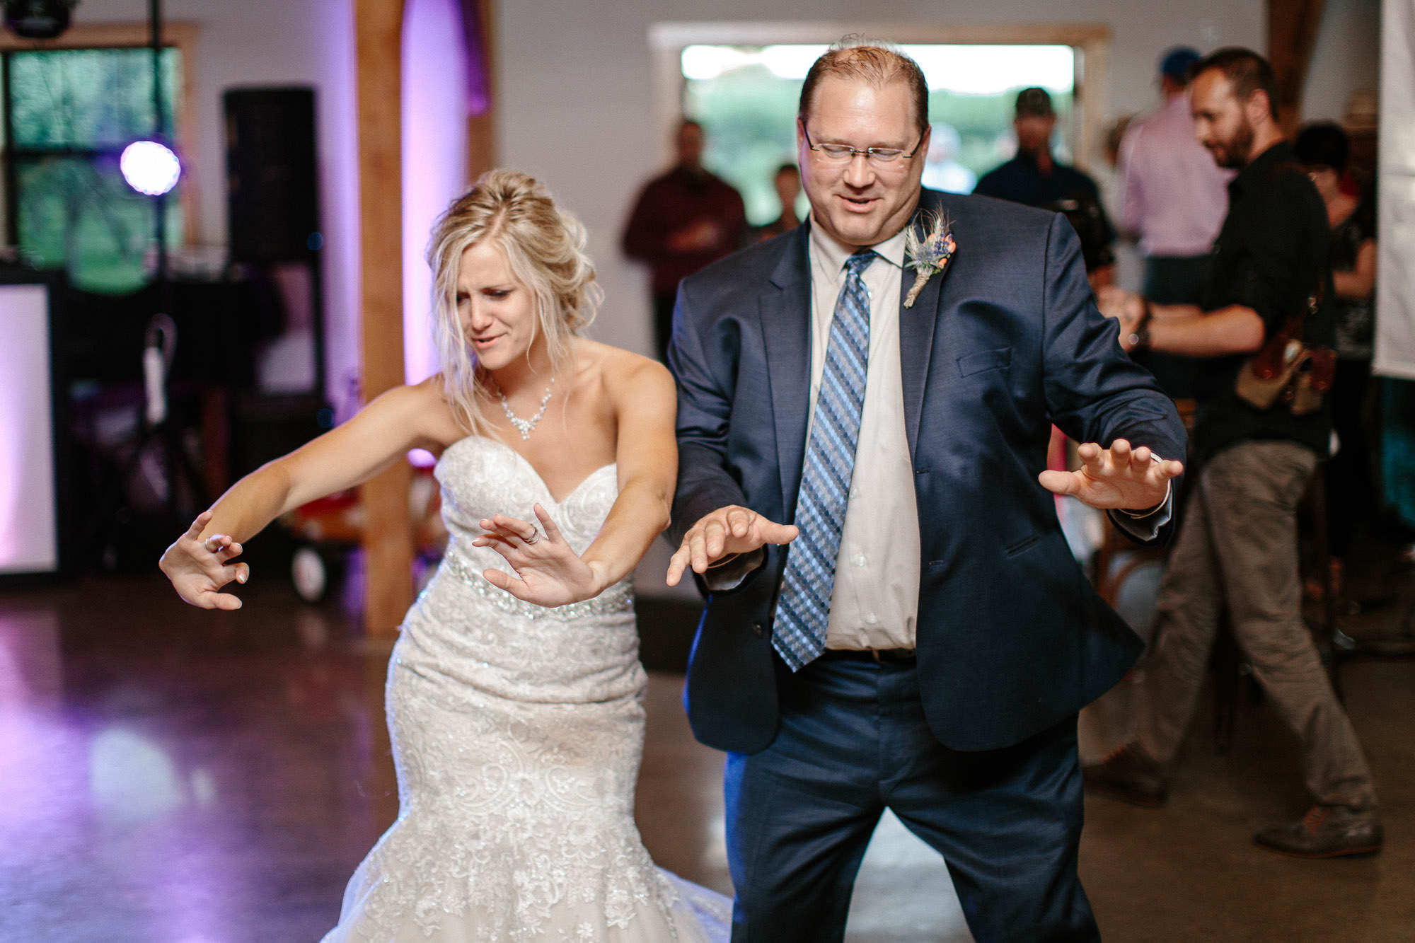
M 974 193 L 1065 214 L 1077 235 L 1092 286 L 1109 285 L 1115 268 L 1115 228 L 1101 205 L 1101 191 L 1088 176 L 1051 156 L 1057 116 L 1044 88 L 1017 92 L 1012 126 L 1017 156 L 982 176 Z

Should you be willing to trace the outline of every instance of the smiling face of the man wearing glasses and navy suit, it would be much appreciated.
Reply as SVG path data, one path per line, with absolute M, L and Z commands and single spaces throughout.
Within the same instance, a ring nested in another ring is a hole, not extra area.
M 914 152 L 914 156 L 879 163 L 856 154 L 849 161 L 833 163 L 811 150 L 804 132 L 809 132 L 816 146 L 849 144 L 856 150 L 893 147 Z M 811 215 L 815 225 L 838 242 L 876 245 L 903 229 L 914 214 L 928 133 L 920 142 L 907 84 L 899 81 L 874 86 L 838 76 L 822 79 L 815 89 L 805 129 L 797 125 L 797 146 Z

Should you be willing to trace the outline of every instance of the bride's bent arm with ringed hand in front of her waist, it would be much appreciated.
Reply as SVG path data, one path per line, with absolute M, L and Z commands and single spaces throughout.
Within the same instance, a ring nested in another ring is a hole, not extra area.
M 536 517 L 543 537 L 536 535 L 536 521 L 498 514 L 481 522 L 494 532 L 477 544 L 494 547 L 521 579 L 497 569 L 485 571 L 484 576 L 519 599 L 563 606 L 599 596 L 628 576 L 668 527 L 678 477 L 674 379 L 662 364 L 637 354 L 617 351 L 616 361 L 607 365 L 606 385 L 617 418 L 614 460 L 620 493 L 594 542 L 576 556 L 539 505 Z

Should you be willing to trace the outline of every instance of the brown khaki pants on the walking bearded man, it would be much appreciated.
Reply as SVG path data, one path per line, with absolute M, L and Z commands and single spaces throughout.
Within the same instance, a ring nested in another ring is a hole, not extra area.
M 1374 808 L 1365 756 L 1302 620 L 1296 507 L 1316 463 L 1295 442 L 1241 442 L 1200 471 L 1160 583 L 1136 739 L 1173 760 L 1227 605 L 1254 677 L 1302 741 L 1307 789 L 1324 806 Z

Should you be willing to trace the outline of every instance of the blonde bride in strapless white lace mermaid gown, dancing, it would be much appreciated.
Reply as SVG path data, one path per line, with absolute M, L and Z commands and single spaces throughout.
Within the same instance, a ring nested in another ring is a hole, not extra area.
M 582 337 L 584 229 L 531 177 L 481 177 L 429 248 L 443 372 L 238 481 L 163 555 L 236 609 L 275 517 L 439 455 L 450 534 L 388 668 L 399 814 L 344 893 L 342 940 L 724 940 L 730 902 L 634 825 L 644 670 L 628 575 L 668 524 L 674 382 Z

